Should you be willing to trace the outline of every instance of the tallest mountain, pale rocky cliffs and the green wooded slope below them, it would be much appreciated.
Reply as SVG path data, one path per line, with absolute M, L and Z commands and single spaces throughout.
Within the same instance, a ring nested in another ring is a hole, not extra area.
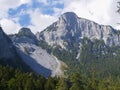
M 36 37 L 42 48 L 68 65 L 69 74 L 119 75 L 120 31 L 111 26 L 66 12 Z

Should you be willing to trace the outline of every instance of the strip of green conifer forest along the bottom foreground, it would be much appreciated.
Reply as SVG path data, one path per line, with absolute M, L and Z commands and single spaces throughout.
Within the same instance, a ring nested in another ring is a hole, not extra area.
M 0 66 L 0 90 L 120 90 L 120 78 L 86 77 L 74 73 L 69 78 L 48 77 Z

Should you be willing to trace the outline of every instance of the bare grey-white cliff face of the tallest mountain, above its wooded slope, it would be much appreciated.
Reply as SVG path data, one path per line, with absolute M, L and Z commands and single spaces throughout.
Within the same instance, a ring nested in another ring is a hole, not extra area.
M 59 45 L 67 48 L 68 42 L 80 43 L 87 37 L 90 40 L 104 40 L 106 45 L 119 45 L 119 32 L 111 26 L 99 25 L 93 21 L 79 18 L 73 12 L 61 15 L 58 21 L 47 27 L 41 33 L 37 33 L 39 40 L 46 41 L 49 45 Z

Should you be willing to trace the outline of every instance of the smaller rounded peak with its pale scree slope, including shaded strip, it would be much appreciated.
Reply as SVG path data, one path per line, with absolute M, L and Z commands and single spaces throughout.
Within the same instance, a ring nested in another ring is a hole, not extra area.
M 29 28 L 21 28 L 11 40 L 18 53 L 36 73 L 43 76 L 61 75 L 61 62 L 39 46 L 39 41 Z

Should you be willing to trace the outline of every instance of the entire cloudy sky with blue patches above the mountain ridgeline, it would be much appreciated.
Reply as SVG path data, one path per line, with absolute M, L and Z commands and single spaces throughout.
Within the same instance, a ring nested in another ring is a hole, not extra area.
M 21 27 L 33 33 L 41 32 L 57 21 L 65 12 L 74 12 L 103 25 L 120 29 L 120 15 L 116 13 L 120 0 L 0 0 L 0 24 L 7 34 Z

